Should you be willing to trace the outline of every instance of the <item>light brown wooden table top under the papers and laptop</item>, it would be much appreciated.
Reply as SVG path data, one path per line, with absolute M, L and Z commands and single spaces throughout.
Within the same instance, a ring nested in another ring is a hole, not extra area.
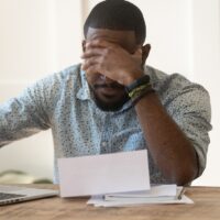
M 34 185 L 57 188 L 53 185 Z M 190 187 L 194 205 L 144 205 L 131 208 L 95 208 L 87 198 L 59 197 L 0 207 L 0 220 L 220 220 L 220 187 Z

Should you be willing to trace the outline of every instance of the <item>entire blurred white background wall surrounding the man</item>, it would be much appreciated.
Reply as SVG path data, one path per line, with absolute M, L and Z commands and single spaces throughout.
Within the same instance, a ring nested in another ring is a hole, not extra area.
M 84 21 L 97 2 L 0 0 L 0 103 L 31 82 L 80 63 Z M 131 2 L 146 20 L 146 42 L 152 45 L 147 64 L 167 74 L 180 73 L 210 92 L 213 130 L 208 164 L 194 185 L 220 186 L 220 1 Z M 51 131 L 2 147 L 0 173 L 11 169 L 30 179 L 52 179 Z

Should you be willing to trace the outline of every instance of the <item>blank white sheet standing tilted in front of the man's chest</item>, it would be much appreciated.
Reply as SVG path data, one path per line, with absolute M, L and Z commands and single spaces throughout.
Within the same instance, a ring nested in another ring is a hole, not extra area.
M 58 160 L 62 197 L 150 189 L 146 150 Z

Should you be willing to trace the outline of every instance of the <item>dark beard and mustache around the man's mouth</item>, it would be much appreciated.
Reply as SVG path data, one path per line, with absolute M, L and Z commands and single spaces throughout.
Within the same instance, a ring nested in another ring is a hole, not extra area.
M 119 90 L 120 92 L 124 90 L 124 92 L 121 97 L 119 97 L 119 99 L 117 99 L 117 97 L 114 96 L 112 97 L 108 95 L 102 95 L 107 99 L 109 99 L 109 100 L 103 100 L 98 96 L 96 91 L 99 88 L 106 88 L 106 87 L 120 89 Z M 130 99 L 129 95 L 125 92 L 125 88 L 121 85 L 113 85 L 113 84 L 112 85 L 95 85 L 94 88 L 91 88 L 91 90 L 92 90 L 94 100 L 97 107 L 102 111 L 119 111 L 123 107 L 123 105 Z M 116 100 L 112 100 L 111 98 Z

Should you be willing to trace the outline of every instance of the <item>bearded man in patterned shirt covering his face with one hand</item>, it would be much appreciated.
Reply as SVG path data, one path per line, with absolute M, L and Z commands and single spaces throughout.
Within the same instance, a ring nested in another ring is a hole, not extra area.
M 57 158 L 147 148 L 151 183 L 201 175 L 210 131 L 208 92 L 145 66 L 145 22 L 128 1 L 102 1 L 84 25 L 82 65 L 0 107 L 0 145 L 52 129 Z M 132 175 L 132 174 L 131 174 Z

